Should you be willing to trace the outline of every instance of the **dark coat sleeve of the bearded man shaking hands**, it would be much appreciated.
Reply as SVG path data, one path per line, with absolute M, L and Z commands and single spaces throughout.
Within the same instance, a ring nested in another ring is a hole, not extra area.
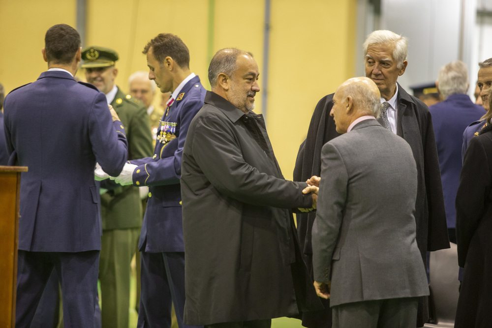
M 307 183 L 269 176 L 246 163 L 232 125 L 220 117 L 200 118 L 194 126 L 192 145 L 197 165 L 221 194 L 256 206 L 312 206 L 311 196 L 302 193 Z

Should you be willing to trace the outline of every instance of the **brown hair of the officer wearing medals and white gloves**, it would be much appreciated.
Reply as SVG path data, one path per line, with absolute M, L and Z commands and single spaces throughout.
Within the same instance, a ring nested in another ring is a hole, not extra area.
M 179 36 L 160 33 L 147 43 L 142 53 L 147 55 L 152 47 L 155 59 L 162 65 L 166 57 L 171 57 L 181 68 L 189 68 L 188 47 Z

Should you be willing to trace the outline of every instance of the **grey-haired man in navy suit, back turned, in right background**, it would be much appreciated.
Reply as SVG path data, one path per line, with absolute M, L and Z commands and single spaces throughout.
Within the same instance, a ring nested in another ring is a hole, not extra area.
M 429 107 L 439 158 L 449 241 L 456 243 L 456 191 L 460 183 L 461 143 L 464 129 L 485 110 L 466 94 L 470 84 L 466 64 L 460 60 L 441 67 L 436 81 L 444 101 Z

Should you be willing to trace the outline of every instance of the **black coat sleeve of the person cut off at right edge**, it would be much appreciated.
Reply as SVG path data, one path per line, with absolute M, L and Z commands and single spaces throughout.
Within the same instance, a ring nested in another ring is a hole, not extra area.
M 464 156 L 456 194 L 456 238 L 461 268 L 464 268 L 470 241 L 485 214 L 485 206 L 490 203 L 490 190 L 489 159 L 478 138 L 473 138 Z

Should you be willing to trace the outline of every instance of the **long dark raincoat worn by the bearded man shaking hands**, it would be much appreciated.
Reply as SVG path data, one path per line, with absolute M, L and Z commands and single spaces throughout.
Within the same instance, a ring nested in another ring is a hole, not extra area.
M 321 306 L 288 210 L 310 208 L 311 196 L 302 194 L 305 182 L 283 179 L 261 115 L 207 91 L 184 145 L 181 185 L 185 324 L 296 316 Z

